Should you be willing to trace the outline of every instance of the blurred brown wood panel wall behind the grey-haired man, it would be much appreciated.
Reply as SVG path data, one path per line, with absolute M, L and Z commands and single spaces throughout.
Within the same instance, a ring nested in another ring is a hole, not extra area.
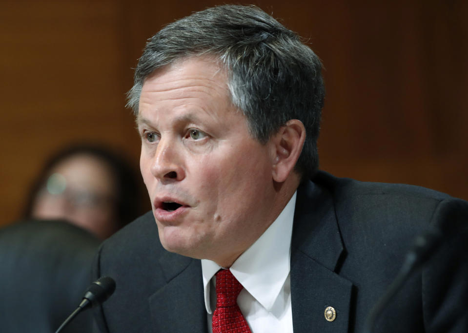
M 138 165 L 131 68 L 164 24 L 221 3 L 1 0 L 0 224 L 59 147 L 102 142 Z M 253 3 L 324 62 L 322 169 L 468 199 L 468 1 Z

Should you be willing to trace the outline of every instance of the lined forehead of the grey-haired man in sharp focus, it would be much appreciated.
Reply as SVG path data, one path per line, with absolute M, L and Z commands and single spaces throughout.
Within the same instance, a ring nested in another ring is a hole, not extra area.
M 225 118 L 232 104 L 224 67 L 211 57 L 189 57 L 159 68 L 143 83 L 137 124 L 191 116 Z M 237 112 L 234 112 L 237 113 Z M 242 114 L 242 112 L 240 112 Z

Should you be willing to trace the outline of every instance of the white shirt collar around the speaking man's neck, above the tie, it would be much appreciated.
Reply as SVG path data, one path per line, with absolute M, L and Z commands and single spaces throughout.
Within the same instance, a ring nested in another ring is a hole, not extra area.
M 291 235 L 296 192 L 278 218 L 232 264 L 230 271 L 266 310 L 270 311 L 289 274 Z M 211 313 L 210 280 L 222 269 L 214 261 L 202 259 L 205 307 Z

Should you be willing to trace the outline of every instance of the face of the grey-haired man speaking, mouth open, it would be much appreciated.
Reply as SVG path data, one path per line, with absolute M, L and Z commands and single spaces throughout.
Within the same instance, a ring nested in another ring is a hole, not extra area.
M 140 167 L 164 248 L 230 265 L 276 218 L 272 142 L 249 134 L 227 75 L 208 58 L 143 84 Z

